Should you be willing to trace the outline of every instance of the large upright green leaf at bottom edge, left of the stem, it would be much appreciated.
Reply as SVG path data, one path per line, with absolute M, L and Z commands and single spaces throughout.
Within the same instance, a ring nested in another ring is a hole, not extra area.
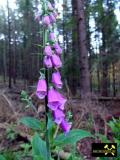
M 32 152 L 36 159 L 47 160 L 47 148 L 46 143 L 43 141 L 37 133 L 32 138 Z

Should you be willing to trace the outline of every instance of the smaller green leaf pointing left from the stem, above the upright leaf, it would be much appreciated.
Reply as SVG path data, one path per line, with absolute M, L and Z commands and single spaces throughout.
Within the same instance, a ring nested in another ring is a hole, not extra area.
M 43 127 L 43 124 L 39 120 L 32 117 L 23 117 L 19 122 L 34 130 L 41 130 Z

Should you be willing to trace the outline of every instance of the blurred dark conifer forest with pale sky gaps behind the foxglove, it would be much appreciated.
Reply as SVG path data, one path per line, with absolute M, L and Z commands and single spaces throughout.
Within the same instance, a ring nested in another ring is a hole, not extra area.
M 37 3 L 17 0 L 15 9 L 9 7 L 9 2 L 1 8 L 0 79 L 9 82 L 10 88 L 17 80 L 33 85 L 39 75 L 42 48 L 37 45 L 42 42 L 43 31 L 34 18 Z M 102 96 L 119 95 L 119 3 L 117 0 L 84 2 L 87 55 L 82 55 L 79 49 L 84 26 L 79 29 L 82 17 L 77 14 L 77 1 L 65 0 L 58 6 L 62 18 L 57 23 L 59 41 L 64 48 L 62 73 L 73 95 L 80 95 L 82 90 Z

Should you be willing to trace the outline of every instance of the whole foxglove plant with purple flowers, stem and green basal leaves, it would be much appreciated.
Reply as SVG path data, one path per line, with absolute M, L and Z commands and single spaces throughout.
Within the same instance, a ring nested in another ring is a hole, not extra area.
M 42 123 L 40 120 L 33 117 L 22 118 L 20 122 L 37 132 L 31 140 L 33 159 L 53 160 L 51 158 L 50 149 L 55 151 L 56 154 L 56 151 L 58 153 L 59 149 L 61 149 L 61 145 L 75 145 L 78 140 L 91 135 L 84 130 L 70 131 L 71 123 L 68 122 L 68 117 L 66 118 L 64 113 L 67 99 L 59 92 L 59 89 L 63 86 L 59 71 L 59 68 L 62 67 L 62 49 L 58 44 L 54 33 L 54 25 L 58 14 L 54 9 L 55 5 L 47 0 L 40 0 L 40 3 L 42 4 L 42 9 L 39 6 L 37 7 L 35 20 L 39 22 L 39 24 L 41 24 L 42 21 L 44 28 L 42 59 L 45 68 L 40 70 L 36 95 L 40 100 L 45 99 L 46 123 L 45 127 L 43 127 L 44 122 Z M 39 46 L 41 47 L 41 45 Z M 31 106 L 36 113 L 38 113 L 36 107 L 34 107 L 32 103 L 32 98 L 29 97 L 26 92 L 22 92 L 21 98 L 28 104 L 27 106 Z M 51 121 L 51 116 L 54 122 Z M 55 124 L 57 126 L 55 126 Z M 61 128 L 64 133 L 57 135 L 59 128 Z M 38 133 L 40 133 L 41 136 Z M 43 140 L 44 138 L 46 143 Z M 70 155 L 68 157 L 71 158 Z

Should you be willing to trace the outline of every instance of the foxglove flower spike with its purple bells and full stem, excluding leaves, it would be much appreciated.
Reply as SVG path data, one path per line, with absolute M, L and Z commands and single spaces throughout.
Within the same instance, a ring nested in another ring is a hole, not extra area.
M 37 85 L 36 95 L 39 99 L 45 98 L 46 106 L 46 128 L 48 123 L 48 113 L 50 112 L 53 115 L 54 122 L 67 134 L 71 128 L 71 124 L 65 119 L 65 103 L 66 98 L 59 93 L 58 89 L 62 88 L 62 80 L 59 72 L 59 68 L 62 67 L 61 54 L 62 49 L 56 41 L 54 33 L 54 24 L 57 18 L 57 12 L 54 9 L 54 5 L 46 0 L 43 0 L 43 18 L 42 24 L 44 27 L 43 38 L 44 38 L 44 50 L 43 50 L 43 64 L 45 67 L 45 78 L 40 78 Z M 39 15 L 35 17 L 36 20 L 39 20 Z M 52 42 L 52 43 L 51 43 Z M 48 77 L 49 69 L 52 69 L 51 83 L 52 86 L 49 86 L 50 77 Z M 46 131 L 46 146 L 48 151 L 48 159 L 50 157 L 49 151 L 49 136 Z

